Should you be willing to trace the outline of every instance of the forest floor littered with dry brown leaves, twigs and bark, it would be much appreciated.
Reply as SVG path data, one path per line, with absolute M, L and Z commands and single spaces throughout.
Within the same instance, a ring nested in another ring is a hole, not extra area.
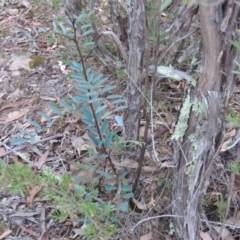
M 43 197 L 43 187 L 34 186 L 34 181 L 32 180 L 31 184 L 30 179 L 36 175 L 42 177 L 43 171 L 48 169 L 56 176 L 67 172 L 74 177 L 93 177 L 92 172 L 84 171 L 77 165 L 84 163 L 82 159 L 85 159 L 86 149 L 93 147 L 86 127 L 80 121 L 81 116 L 66 114 L 64 119 L 59 120 L 54 114 L 54 108 L 48 108 L 50 103 L 57 104 L 61 99 L 76 92 L 74 82 L 68 77 L 69 66 L 74 56 L 63 44 L 62 39 L 53 33 L 53 19 L 56 16 L 64 16 L 64 10 L 59 4 L 59 1 L 52 1 L 50 4 L 48 1 L 39 3 L 0 0 L 0 161 L 3 166 L 15 164 L 18 167 L 30 167 L 30 172 L 22 168 L 25 172 L 19 179 L 18 176 L 11 176 L 20 175 L 18 170 L 14 172 L 12 169 L 12 172 L 8 172 L 12 179 L 18 181 L 16 188 L 7 186 L 10 190 L 1 189 L 3 176 L 7 175 L 0 172 L 0 239 L 83 239 L 83 224 L 76 220 L 79 218 L 78 211 L 72 211 L 67 216 L 56 216 L 56 208 L 66 206 L 63 204 L 54 208 L 53 201 Z M 112 68 L 104 66 L 94 57 L 90 59 L 90 64 L 97 72 L 108 75 L 110 82 L 118 81 L 117 91 L 123 93 L 120 83 L 122 79 L 116 79 L 116 72 Z M 178 97 L 169 98 L 170 100 L 163 97 L 168 91 L 174 92 Z M 181 87 L 168 82 L 159 92 L 159 101 L 155 109 L 165 123 L 171 125 L 176 120 L 181 105 Z M 46 128 L 46 119 L 39 115 L 39 111 L 47 113 L 55 121 L 51 129 Z M 41 127 L 44 126 L 44 131 L 38 132 L 38 126 L 33 126 L 29 121 L 38 122 Z M 112 128 L 121 131 L 121 126 L 114 121 L 114 117 L 110 118 L 110 122 Z M 156 121 L 155 130 L 159 131 L 165 123 Z M 141 124 L 140 137 L 143 137 L 144 121 L 141 121 Z M 37 136 L 33 144 L 21 142 L 26 136 L 24 131 Z M 228 134 L 231 139 L 236 135 L 236 130 L 231 129 Z M 141 197 L 134 200 L 135 207 L 120 209 L 120 212 L 117 209 L 121 227 L 112 238 L 99 239 L 172 239 L 173 228 L 171 220 L 167 218 L 171 214 L 173 153 L 169 144 L 170 136 L 169 131 L 157 139 L 154 146 L 161 164 L 151 160 L 152 149 L 147 149 L 140 182 Z M 225 146 L 227 144 L 226 142 Z M 130 175 L 137 168 L 137 162 L 130 159 L 121 163 L 115 161 L 115 165 L 126 169 Z M 223 193 L 228 189 L 226 173 L 225 166 L 219 159 L 213 171 L 211 191 L 204 205 L 205 214 L 213 221 L 221 221 L 226 211 L 226 192 Z M 115 181 L 114 184 L 117 181 L 111 180 Z M 29 186 L 24 185 L 22 188 L 21 181 L 29 181 Z M 9 184 L 12 184 L 10 182 L 11 179 Z M 112 182 L 105 183 L 111 185 Z M 237 195 L 238 191 L 232 194 Z M 111 198 L 111 194 L 103 191 L 99 192 L 96 199 L 104 202 Z M 119 206 L 119 203 L 117 205 Z M 235 207 L 232 209 L 236 210 Z M 157 218 L 159 215 L 162 218 Z M 166 218 L 163 218 L 165 215 Z M 228 218 L 227 222 L 232 221 L 239 225 L 238 211 L 235 211 L 233 216 Z M 148 219 L 149 217 L 155 218 Z M 146 221 L 139 222 L 141 220 Z M 231 238 L 230 230 L 224 230 L 227 239 L 237 239 Z M 210 239 L 207 237 L 205 235 L 202 239 Z

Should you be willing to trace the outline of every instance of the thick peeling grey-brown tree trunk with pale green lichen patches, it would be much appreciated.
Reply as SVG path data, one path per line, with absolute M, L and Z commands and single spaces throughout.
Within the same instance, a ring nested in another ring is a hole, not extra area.
M 227 9 L 222 11 L 222 7 Z M 232 8 L 231 17 L 229 7 Z M 223 13 L 226 15 L 221 16 Z M 175 218 L 173 222 L 177 239 L 184 240 L 201 239 L 201 197 L 208 186 L 221 144 L 225 117 L 223 106 L 232 94 L 234 83 L 232 70 L 236 51 L 231 50 L 230 40 L 239 8 L 235 3 L 224 6 L 204 4 L 199 6 L 199 15 L 202 71 L 198 86 L 190 90 L 190 113 L 186 111 L 189 113 L 188 128 L 181 139 L 175 138 L 174 141 L 174 165 L 177 167 L 173 170 L 172 212 L 183 218 Z M 224 21 L 225 17 L 227 20 Z M 224 33 L 221 32 L 222 23 Z

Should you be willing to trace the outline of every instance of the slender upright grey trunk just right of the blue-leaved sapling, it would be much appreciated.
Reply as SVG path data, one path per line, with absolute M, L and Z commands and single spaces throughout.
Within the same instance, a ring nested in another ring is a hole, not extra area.
M 125 140 L 137 140 L 141 107 L 141 82 L 143 73 L 143 54 L 145 50 L 143 21 L 146 21 L 143 0 L 132 0 L 129 12 L 129 58 L 126 99 L 128 109 L 124 113 Z

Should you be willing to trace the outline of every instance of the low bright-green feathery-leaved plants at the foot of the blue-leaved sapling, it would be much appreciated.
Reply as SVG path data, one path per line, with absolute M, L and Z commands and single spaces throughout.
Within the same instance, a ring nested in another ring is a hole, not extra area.
M 1 192 L 27 197 L 29 189 L 39 187 L 38 195 L 52 207 L 51 217 L 55 221 L 82 223 L 84 239 L 109 238 L 118 230 L 116 206 L 98 200 L 94 179 L 86 184 L 66 172 L 56 174 L 47 169 L 35 173 L 28 164 L 19 161 L 0 165 Z

